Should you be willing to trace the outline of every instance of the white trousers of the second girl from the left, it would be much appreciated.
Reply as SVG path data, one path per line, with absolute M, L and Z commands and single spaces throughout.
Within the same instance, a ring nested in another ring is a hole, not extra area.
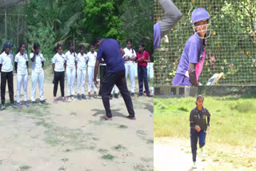
M 27 82 L 28 74 L 18 74 L 17 75 L 17 102 L 21 102 L 21 89 L 23 87 L 24 101 L 27 101 Z

